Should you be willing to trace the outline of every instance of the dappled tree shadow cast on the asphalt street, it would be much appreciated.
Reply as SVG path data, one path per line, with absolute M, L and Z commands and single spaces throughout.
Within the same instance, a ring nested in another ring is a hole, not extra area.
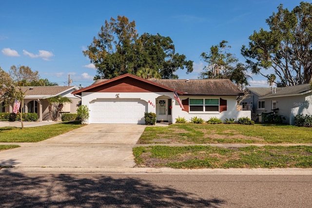
M 0 174 L 2 207 L 220 207 L 225 201 L 156 185 L 138 177 Z

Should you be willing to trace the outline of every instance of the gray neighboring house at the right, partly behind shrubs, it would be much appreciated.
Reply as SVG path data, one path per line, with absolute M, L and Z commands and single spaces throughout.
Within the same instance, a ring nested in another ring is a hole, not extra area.
M 278 88 L 249 87 L 251 97 L 244 102 L 251 104 L 252 118 L 257 114 L 278 108 L 278 115 L 285 116 L 285 123 L 294 125 L 294 116 L 312 114 L 312 91 L 309 84 Z

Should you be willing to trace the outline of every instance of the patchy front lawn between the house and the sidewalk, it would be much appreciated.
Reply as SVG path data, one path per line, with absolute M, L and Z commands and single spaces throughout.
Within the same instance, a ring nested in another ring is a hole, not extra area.
M 147 127 L 139 144 L 312 143 L 312 128 L 290 125 L 172 124 Z

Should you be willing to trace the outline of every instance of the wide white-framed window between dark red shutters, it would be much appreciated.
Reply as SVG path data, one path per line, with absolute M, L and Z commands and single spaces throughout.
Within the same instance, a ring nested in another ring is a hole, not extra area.
M 190 99 L 190 112 L 219 111 L 218 98 L 196 98 Z

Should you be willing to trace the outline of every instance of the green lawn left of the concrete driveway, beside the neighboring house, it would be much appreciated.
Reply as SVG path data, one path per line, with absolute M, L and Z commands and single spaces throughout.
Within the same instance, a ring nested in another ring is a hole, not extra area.
M 0 142 L 39 142 L 83 126 L 79 121 L 64 122 L 53 125 L 0 128 Z

